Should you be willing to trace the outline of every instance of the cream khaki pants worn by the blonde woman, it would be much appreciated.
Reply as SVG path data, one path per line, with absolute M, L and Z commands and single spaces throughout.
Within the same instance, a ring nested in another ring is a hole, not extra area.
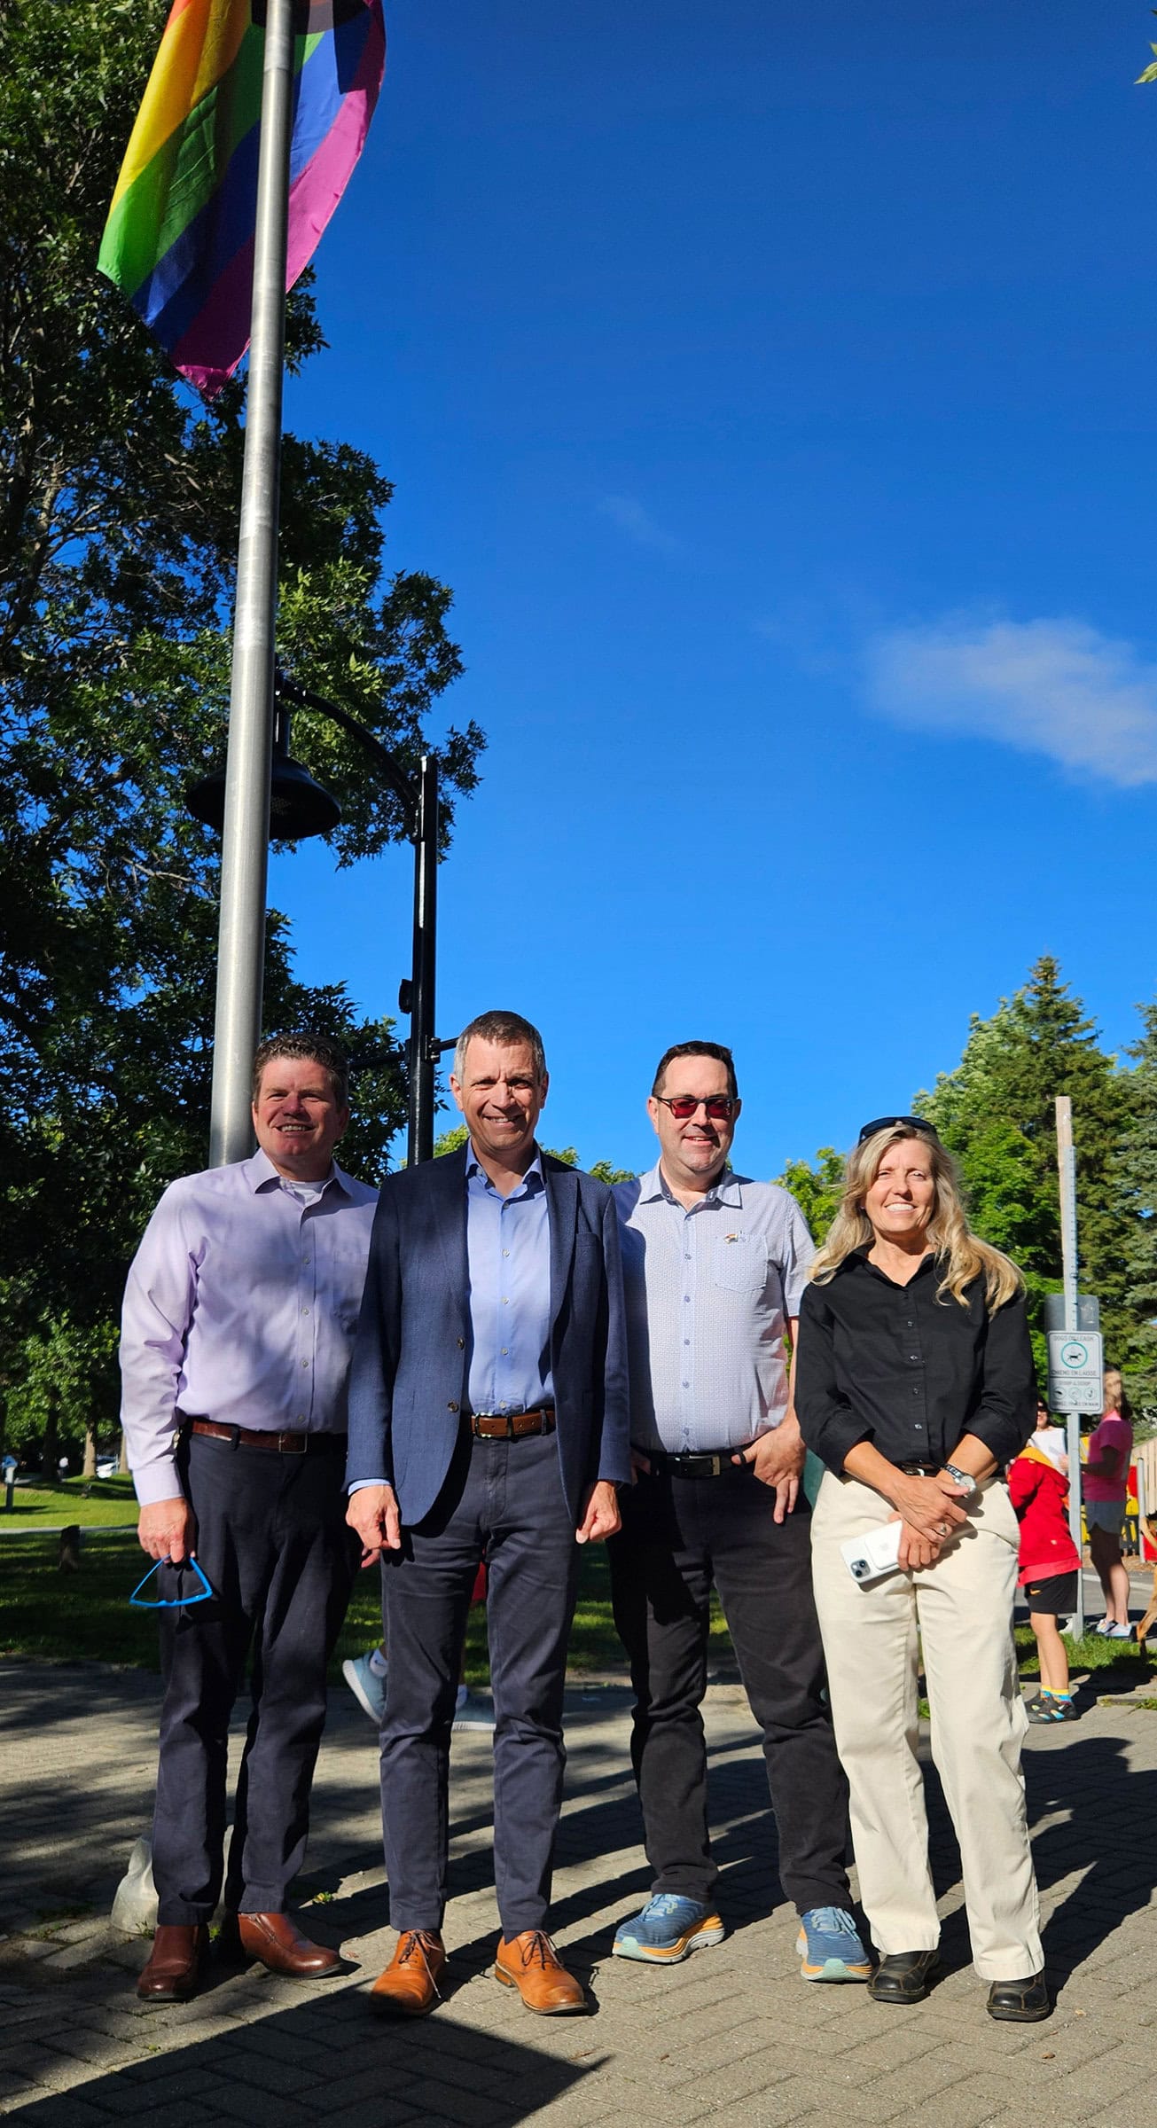
M 932 1951 L 940 1917 L 927 1866 L 917 1760 L 917 1630 L 932 1707 L 932 1758 L 963 1868 L 972 1960 L 985 1981 L 1040 1973 L 1040 1909 L 1021 1777 L 1027 1717 L 1012 1651 L 1017 1517 L 985 1485 L 934 1566 L 859 1587 L 840 1539 L 893 1509 L 857 1479 L 823 1477 L 812 1515 L 815 1602 L 836 1745 L 851 1783 L 859 1896 L 883 1956 Z

